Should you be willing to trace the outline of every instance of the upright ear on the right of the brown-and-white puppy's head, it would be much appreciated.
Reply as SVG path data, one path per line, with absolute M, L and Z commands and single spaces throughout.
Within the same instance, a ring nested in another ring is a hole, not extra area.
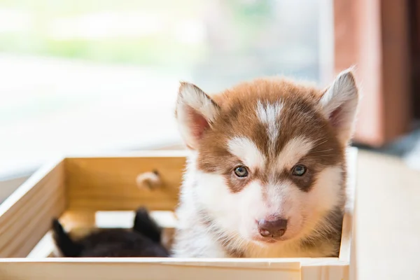
M 319 100 L 325 117 L 335 128 L 337 138 L 343 145 L 349 144 L 353 136 L 358 100 L 353 68 L 339 73 Z

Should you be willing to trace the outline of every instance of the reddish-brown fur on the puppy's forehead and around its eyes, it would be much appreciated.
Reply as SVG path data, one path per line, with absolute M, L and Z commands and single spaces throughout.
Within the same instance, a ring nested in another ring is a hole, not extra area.
M 200 151 L 198 168 L 205 172 L 225 175 L 230 189 L 236 193 L 241 191 L 249 180 L 238 179 L 232 174 L 232 169 L 227 168 L 238 162 L 235 155 L 228 151 L 228 137 L 232 135 L 248 137 L 260 148 L 269 159 L 269 166 L 264 170 L 257 169 L 253 178 L 257 177 L 260 181 L 267 182 L 267 171 L 271 170 L 271 165 L 274 165 L 275 156 L 290 139 L 303 136 L 317 143 L 301 160 L 303 165 L 310 167 L 309 176 L 293 177 L 290 176 L 290 170 L 284 170 L 281 174 L 277 174 L 277 180 L 281 181 L 288 177 L 302 190 L 310 190 L 319 171 L 344 160 L 344 147 L 335 139 L 335 130 L 315 109 L 320 96 L 321 92 L 314 87 L 296 85 L 288 80 L 274 78 L 243 83 L 215 95 L 213 99 L 221 107 L 221 116 L 211 124 L 212 129 L 202 137 L 198 148 Z M 267 134 L 261 133 L 266 130 L 265 125 L 255 116 L 258 100 L 263 104 L 276 101 L 283 104 L 279 118 L 281 130 L 274 151 L 269 148 Z

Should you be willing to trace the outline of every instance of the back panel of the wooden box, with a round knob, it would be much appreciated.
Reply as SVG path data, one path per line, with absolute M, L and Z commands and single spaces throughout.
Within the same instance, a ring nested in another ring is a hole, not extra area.
M 70 211 L 173 211 L 186 165 L 186 151 L 140 153 L 135 157 L 66 158 Z M 156 170 L 162 186 L 139 188 L 137 176 Z

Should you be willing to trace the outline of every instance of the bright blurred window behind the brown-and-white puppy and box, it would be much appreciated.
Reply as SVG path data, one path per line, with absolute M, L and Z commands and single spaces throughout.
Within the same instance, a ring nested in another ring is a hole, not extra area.
M 279 73 L 323 83 L 330 2 L 1 1 L 0 177 L 178 142 L 179 80 L 208 92 Z

